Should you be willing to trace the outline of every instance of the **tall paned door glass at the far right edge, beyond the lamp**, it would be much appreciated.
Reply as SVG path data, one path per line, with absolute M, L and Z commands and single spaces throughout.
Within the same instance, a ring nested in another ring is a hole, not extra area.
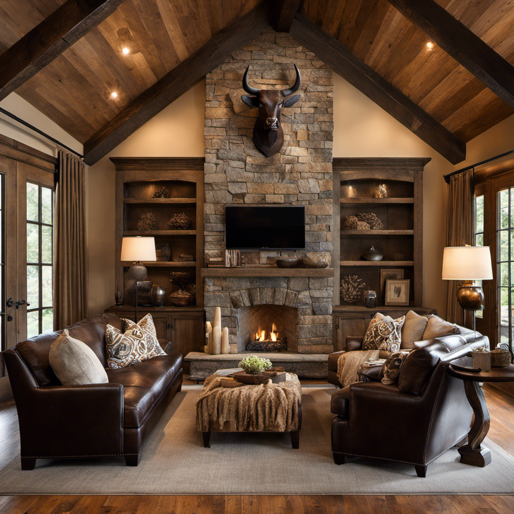
M 514 188 L 499 191 L 497 213 L 497 283 L 499 316 L 499 343 L 512 339 L 512 303 L 514 287 Z

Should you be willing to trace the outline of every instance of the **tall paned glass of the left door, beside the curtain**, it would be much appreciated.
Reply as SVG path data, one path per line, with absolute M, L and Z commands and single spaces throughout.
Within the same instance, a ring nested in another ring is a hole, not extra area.
M 53 191 L 27 182 L 27 339 L 53 330 Z

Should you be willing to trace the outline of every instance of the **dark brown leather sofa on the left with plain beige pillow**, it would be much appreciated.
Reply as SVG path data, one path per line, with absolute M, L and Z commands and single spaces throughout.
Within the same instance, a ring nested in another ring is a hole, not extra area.
M 105 327 L 122 329 L 114 314 L 68 328 L 107 366 Z M 38 458 L 124 456 L 137 466 L 139 450 L 182 386 L 182 354 L 170 352 L 119 370 L 109 383 L 62 386 L 49 362 L 59 332 L 43 334 L 3 352 L 20 423 L 22 469 Z M 162 345 L 162 343 L 161 343 Z

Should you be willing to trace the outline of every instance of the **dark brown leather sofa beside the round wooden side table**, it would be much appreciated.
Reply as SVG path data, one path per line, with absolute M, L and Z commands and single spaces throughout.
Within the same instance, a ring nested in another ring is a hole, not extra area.
M 472 348 L 489 347 L 488 338 L 477 333 L 475 339 L 466 331 L 418 345 L 403 362 L 397 383 L 382 384 L 375 369 L 365 373 L 372 381 L 332 395 L 336 464 L 348 455 L 380 458 L 413 464 L 418 476 L 426 476 L 430 462 L 466 438 L 472 409 L 463 381 L 448 374 L 448 365 Z

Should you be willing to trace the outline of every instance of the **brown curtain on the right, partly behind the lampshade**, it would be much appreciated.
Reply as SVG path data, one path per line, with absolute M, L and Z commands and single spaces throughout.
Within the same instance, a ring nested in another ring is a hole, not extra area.
M 446 246 L 473 245 L 474 236 L 474 172 L 465 171 L 450 177 L 448 185 Z M 464 311 L 457 302 L 458 282 L 448 281 L 446 293 L 446 319 L 451 323 L 464 324 Z

